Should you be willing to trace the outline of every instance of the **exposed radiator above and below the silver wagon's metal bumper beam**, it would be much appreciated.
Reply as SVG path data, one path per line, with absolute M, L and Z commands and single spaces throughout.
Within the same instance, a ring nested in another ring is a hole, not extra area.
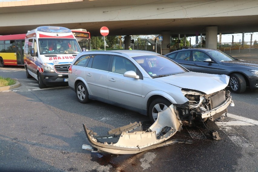
M 225 102 L 226 102 L 226 97 L 225 97 L 225 92 L 224 91 L 220 91 L 219 93 L 214 94 L 213 96 L 210 97 L 211 109 L 217 108 L 218 106 L 222 105 Z M 224 114 L 226 112 L 227 112 L 227 109 L 213 115 L 212 116 L 212 121 L 219 118 L 222 114 Z

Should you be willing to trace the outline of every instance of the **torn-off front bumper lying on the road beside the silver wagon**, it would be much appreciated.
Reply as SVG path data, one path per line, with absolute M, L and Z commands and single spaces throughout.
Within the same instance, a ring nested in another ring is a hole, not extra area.
M 83 145 L 82 148 L 92 152 L 136 154 L 175 143 L 192 143 L 183 140 L 167 141 L 182 127 L 182 122 L 173 104 L 159 112 L 157 120 L 146 131 L 143 131 L 141 122 L 108 131 L 108 135 L 97 135 L 88 130 L 84 124 L 83 127 L 91 146 Z

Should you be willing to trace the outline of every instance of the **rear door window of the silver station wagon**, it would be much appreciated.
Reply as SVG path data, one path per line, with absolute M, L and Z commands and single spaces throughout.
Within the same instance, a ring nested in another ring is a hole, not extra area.
M 99 69 L 103 71 L 109 71 L 108 65 L 109 65 L 109 60 L 111 58 L 110 55 L 93 55 L 91 56 L 91 58 L 93 58 L 91 68 Z

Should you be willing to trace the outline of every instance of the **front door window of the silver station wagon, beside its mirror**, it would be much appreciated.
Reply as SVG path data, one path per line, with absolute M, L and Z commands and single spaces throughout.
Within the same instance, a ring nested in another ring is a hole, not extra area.
M 118 74 L 124 74 L 124 72 L 126 72 L 126 71 L 135 71 L 136 72 L 136 67 L 128 59 L 114 56 L 111 71 L 118 73 Z

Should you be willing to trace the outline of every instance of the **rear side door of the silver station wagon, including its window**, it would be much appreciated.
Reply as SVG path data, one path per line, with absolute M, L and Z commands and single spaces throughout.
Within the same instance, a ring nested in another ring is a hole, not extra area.
M 92 55 L 85 71 L 89 94 L 108 100 L 108 73 L 110 55 Z

